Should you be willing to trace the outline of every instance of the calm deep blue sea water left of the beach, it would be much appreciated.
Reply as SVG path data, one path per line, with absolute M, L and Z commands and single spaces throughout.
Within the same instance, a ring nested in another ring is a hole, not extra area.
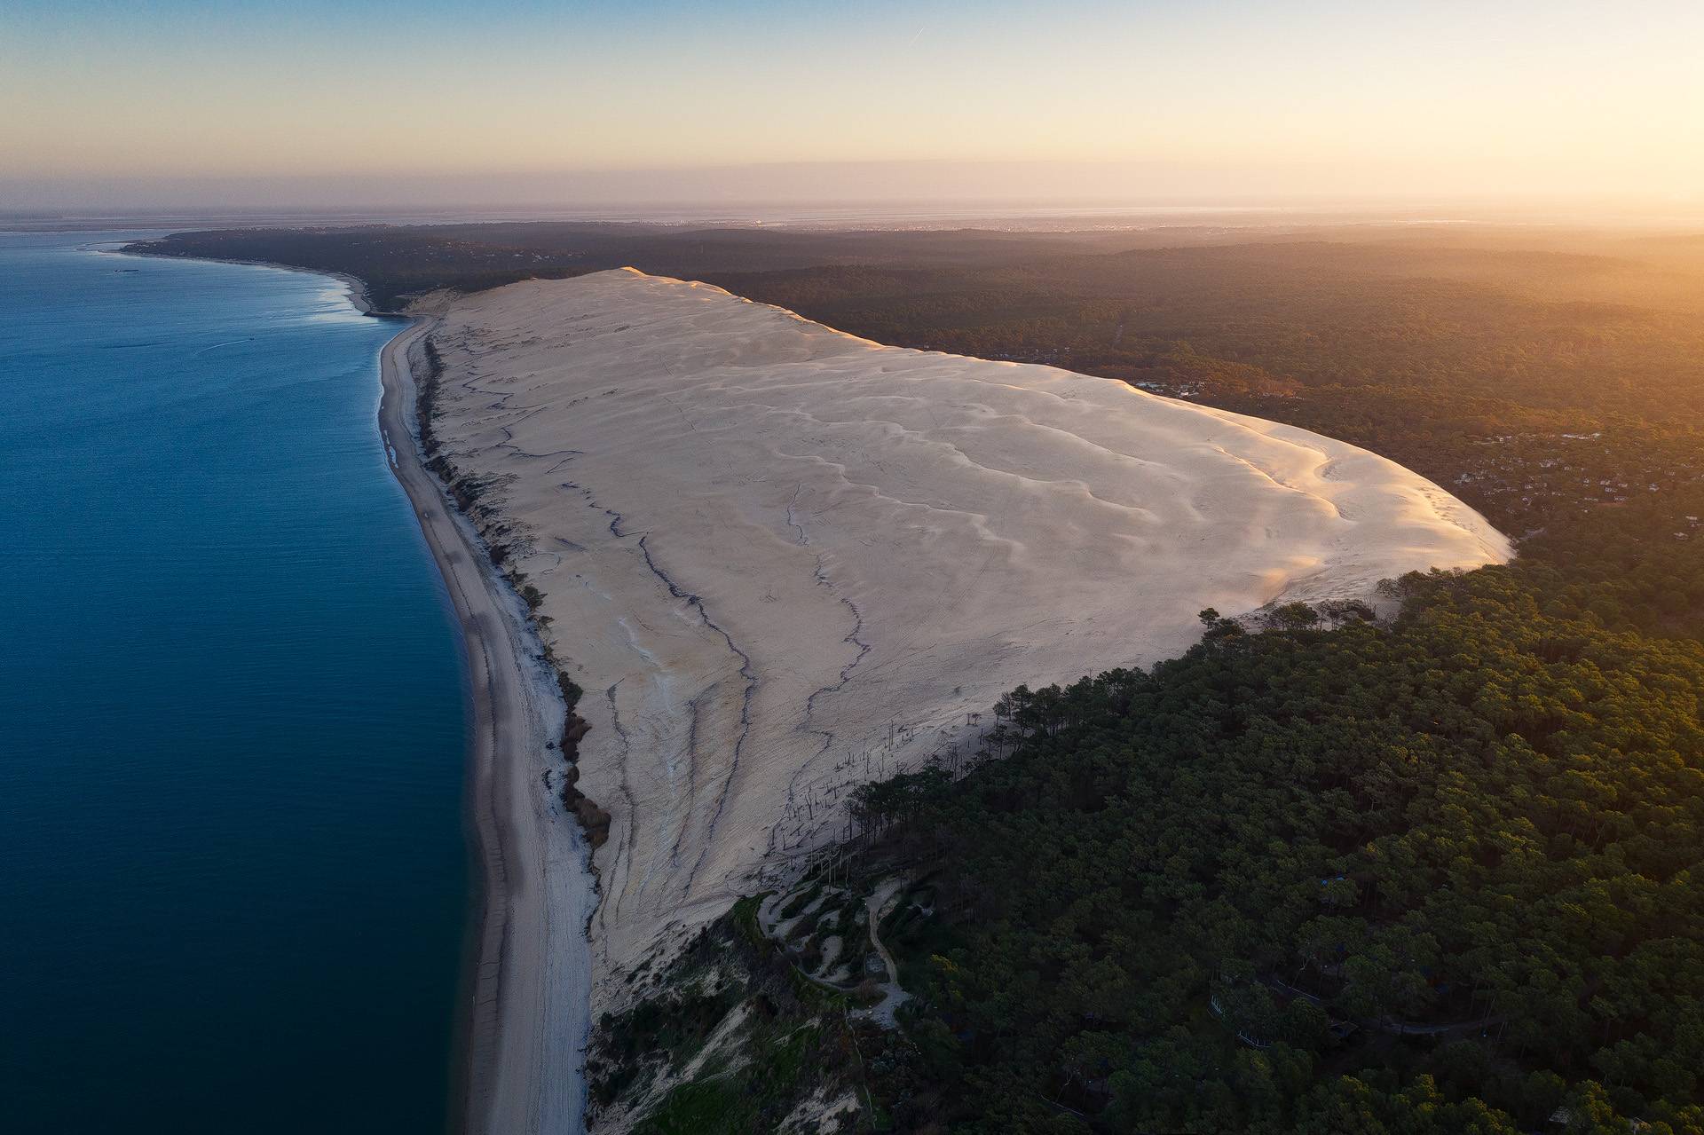
M 112 237 L 0 235 L 0 1130 L 440 1132 L 465 692 L 397 324 Z

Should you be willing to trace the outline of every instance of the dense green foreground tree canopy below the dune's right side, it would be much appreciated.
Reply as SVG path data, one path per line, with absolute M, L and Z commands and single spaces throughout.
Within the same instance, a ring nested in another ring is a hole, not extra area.
M 1576 561 L 1413 576 L 1390 624 L 1203 612 L 1152 673 L 1014 692 L 961 782 L 867 789 L 878 854 L 939 864 L 905 941 L 932 1106 L 1701 1130 L 1704 648 L 1605 627 Z

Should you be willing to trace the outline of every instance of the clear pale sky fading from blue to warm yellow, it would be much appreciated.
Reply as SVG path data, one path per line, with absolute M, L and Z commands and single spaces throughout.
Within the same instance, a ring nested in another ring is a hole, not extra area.
M 0 210 L 1704 205 L 1704 3 L 7 0 Z

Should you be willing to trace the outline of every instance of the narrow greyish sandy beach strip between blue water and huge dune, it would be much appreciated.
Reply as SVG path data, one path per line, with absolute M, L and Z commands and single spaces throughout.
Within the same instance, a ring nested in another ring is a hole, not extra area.
M 409 365 L 428 322 L 383 351 L 380 429 L 392 470 L 443 573 L 472 694 L 469 804 L 481 867 L 477 968 L 469 982 L 465 1130 L 578 1132 L 590 1019 L 586 847 L 550 784 L 562 702 L 525 608 L 421 464 Z

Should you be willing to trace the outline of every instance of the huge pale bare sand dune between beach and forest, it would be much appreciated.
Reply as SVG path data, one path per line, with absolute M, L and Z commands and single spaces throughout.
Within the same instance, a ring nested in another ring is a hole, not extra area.
M 1503 561 L 1416 474 L 1068 372 L 878 346 L 598 273 L 455 302 L 436 435 L 491 479 L 591 723 L 613 975 L 975 748 L 1019 683 L 1177 654 L 1196 612 Z

